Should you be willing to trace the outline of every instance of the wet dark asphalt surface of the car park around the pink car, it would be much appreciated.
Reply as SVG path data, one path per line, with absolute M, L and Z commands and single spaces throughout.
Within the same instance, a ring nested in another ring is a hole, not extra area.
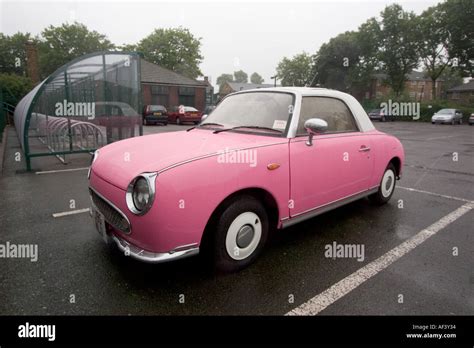
M 90 157 L 70 156 L 67 165 L 35 159 L 35 171 L 24 173 L 10 128 L 0 243 L 37 244 L 39 254 L 37 262 L 0 259 L 0 314 L 474 314 L 474 127 L 375 126 L 405 147 L 389 204 L 363 199 L 276 231 L 255 264 L 228 275 L 211 273 L 199 257 L 140 263 L 106 246 L 87 212 L 53 217 L 90 207 Z M 189 127 L 148 126 L 144 133 Z M 423 231 L 430 237 L 414 245 Z M 333 242 L 363 245 L 364 259 L 326 257 Z M 412 248 L 392 263 L 356 282 L 351 277 L 405 242 Z M 347 291 L 337 284 L 352 285 Z M 329 289 L 337 296 L 321 302 Z

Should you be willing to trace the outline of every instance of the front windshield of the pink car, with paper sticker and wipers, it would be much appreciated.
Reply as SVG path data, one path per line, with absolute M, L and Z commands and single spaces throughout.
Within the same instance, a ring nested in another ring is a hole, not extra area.
M 238 93 L 222 100 L 202 125 L 218 123 L 225 128 L 252 127 L 239 129 L 246 132 L 275 134 L 271 131 L 274 129 L 283 133 L 289 122 L 293 106 L 294 97 L 290 93 Z

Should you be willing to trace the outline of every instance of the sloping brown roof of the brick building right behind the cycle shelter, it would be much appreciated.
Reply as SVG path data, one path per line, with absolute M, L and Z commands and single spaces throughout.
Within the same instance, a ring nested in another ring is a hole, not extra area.
M 207 86 L 204 81 L 190 79 L 144 59 L 141 60 L 141 82 L 193 87 Z

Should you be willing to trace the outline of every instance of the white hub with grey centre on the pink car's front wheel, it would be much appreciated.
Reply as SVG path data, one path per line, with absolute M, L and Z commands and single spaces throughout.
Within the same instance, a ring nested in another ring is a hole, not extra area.
M 257 249 L 262 237 L 262 221 L 257 214 L 245 212 L 229 226 L 225 239 L 227 254 L 234 260 L 244 260 Z

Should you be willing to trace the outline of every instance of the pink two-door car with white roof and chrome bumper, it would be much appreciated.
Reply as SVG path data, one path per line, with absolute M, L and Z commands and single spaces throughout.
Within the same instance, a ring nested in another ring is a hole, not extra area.
M 235 271 L 268 234 L 346 203 L 392 196 L 401 143 L 352 96 L 322 88 L 230 94 L 199 126 L 119 141 L 89 172 L 93 217 L 126 255 L 207 253 Z

